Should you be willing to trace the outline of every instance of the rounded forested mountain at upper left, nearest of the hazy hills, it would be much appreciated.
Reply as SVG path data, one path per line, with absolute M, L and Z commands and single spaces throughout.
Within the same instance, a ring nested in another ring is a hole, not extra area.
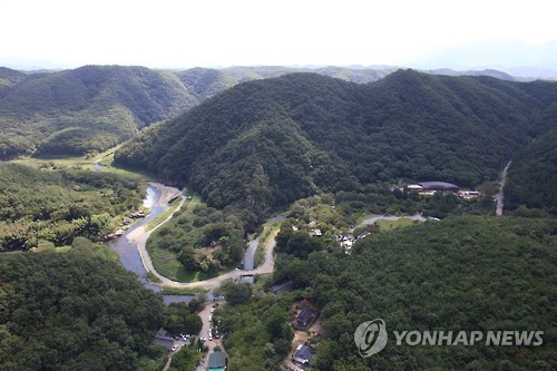
M 105 150 L 138 128 L 197 104 L 175 75 L 143 67 L 31 74 L 1 91 L 3 159 L 32 152 L 48 156 Z

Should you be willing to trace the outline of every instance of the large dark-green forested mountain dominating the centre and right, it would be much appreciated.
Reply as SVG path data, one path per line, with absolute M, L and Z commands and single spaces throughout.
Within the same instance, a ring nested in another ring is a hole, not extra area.
M 154 126 L 116 154 L 256 213 L 316 189 L 378 180 L 496 179 L 538 131 L 557 84 L 399 70 L 356 85 L 315 74 L 241 84 Z

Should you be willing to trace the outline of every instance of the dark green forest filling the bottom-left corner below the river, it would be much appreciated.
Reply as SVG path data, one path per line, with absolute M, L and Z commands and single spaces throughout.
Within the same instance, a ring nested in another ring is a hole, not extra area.
M 162 354 L 160 297 L 87 247 L 2 255 L 0 297 L 2 371 L 131 371 Z

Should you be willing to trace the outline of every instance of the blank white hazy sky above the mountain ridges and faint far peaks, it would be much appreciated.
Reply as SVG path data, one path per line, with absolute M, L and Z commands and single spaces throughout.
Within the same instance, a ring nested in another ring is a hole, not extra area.
M 555 0 L 0 0 L 0 10 L 3 65 L 403 65 L 485 39 L 557 40 Z

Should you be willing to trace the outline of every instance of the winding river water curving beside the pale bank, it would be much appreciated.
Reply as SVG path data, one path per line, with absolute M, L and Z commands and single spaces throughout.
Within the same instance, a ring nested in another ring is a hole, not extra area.
M 150 208 L 149 214 L 140 221 L 137 221 L 131 225 L 120 237 L 111 240 L 107 243 L 108 247 L 114 250 L 120 256 L 120 263 L 126 270 L 133 272 L 137 275 L 139 281 L 145 287 L 150 289 L 156 292 L 160 292 L 158 285 L 152 284 L 147 280 L 147 271 L 141 262 L 141 256 L 137 250 L 137 245 L 130 243 L 127 238 L 128 234 L 134 230 L 149 223 L 156 218 L 160 213 L 165 211 L 165 207 L 159 206 L 158 201 L 160 199 L 160 189 L 155 186 L 149 185 L 147 187 L 147 195 L 144 199 L 144 206 Z M 211 294 L 206 294 L 207 299 L 213 299 Z M 189 302 L 196 295 L 163 295 L 163 300 L 166 304 L 177 303 L 177 302 Z

